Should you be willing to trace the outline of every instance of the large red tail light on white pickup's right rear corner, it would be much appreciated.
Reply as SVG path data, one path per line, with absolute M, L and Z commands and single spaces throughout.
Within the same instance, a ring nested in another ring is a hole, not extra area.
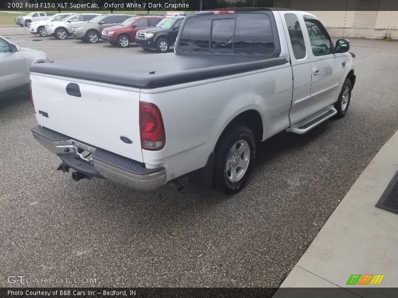
M 153 103 L 140 101 L 140 136 L 142 149 L 156 151 L 165 147 L 162 114 Z

